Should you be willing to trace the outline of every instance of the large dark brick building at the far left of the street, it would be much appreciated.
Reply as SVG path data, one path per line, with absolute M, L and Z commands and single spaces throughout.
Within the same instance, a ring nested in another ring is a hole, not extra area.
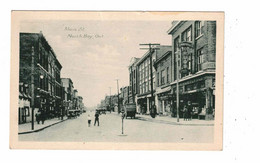
M 21 99 L 34 100 L 35 112 L 40 110 L 46 118 L 60 115 L 62 103 L 62 85 L 60 71 L 62 66 L 55 52 L 49 45 L 43 34 L 20 33 L 20 62 L 19 62 L 19 85 Z M 33 81 L 32 81 L 33 80 Z M 34 85 L 34 98 L 32 97 L 32 84 Z M 27 96 L 27 97 L 26 97 Z M 32 99 L 33 98 L 33 99 Z M 31 106 L 24 110 L 19 108 L 19 117 L 27 116 L 31 121 Z

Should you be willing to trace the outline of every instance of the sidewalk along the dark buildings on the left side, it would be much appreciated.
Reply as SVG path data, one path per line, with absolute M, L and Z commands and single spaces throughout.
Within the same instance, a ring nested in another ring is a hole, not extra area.
M 34 130 L 32 130 L 32 123 L 24 123 L 18 125 L 18 134 L 29 134 L 33 132 L 38 132 L 41 130 L 44 130 L 45 128 L 51 127 L 53 125 L 56 125 L 58 123 L 61 123 L 65 120 L 67 120 L 67 117 L 64 117 L 63 120 L 58 118 L 53 118 L 49 120 L 45 120 L 44 124 L 40 122 L 40 124 L 37 124 L 37 122 L 34 122 Z

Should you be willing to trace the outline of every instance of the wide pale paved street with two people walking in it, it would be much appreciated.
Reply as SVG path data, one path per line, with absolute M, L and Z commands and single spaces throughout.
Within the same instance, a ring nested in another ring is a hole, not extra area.
M 213 142 L 214 126 L 189 126 L 145 121 L 143 118 L 124 119 L 124 136 L 121 135 L 121 117 L 116 113 L 100 116 L 100 126 L 91 127 L 87 115 L 68 119 L 43 131 L 19 135 L 20 141 L 68 141 L 68 142 Z

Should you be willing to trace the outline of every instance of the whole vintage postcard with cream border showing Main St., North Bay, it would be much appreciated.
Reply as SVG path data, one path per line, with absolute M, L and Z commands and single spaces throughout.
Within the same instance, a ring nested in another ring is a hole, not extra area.
M 12 11 L 11 149 L 222 150 L 223 12 Z

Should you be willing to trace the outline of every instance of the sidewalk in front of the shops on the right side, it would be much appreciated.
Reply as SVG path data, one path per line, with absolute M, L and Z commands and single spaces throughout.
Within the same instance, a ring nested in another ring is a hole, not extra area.
M 177 118 L 169 117 L 169 116 L 156 116 L 152 118 L 150 115 L 136 115 L 136 118 L 143 121 L 150 121 L 150 122 L 159 122 L 159 123 L 166 123 L 172 125 L 186 125 L 186 126 L 214 126 L 214 120 L 198 120 L 192 119 L 191 121 L 184 121 L 183 118 L 179 119 L 177 122 Z

